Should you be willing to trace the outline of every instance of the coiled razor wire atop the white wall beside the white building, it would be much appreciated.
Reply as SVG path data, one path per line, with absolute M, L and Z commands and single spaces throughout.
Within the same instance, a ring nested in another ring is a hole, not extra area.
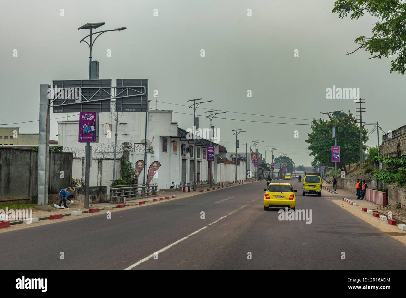
M 117 144 L 116 159 L 120 159 L 125 151 L 131 151 L 140 155 L 143 155 L 145 152 L 144 145 L 142 144 L 138 144 L 134 147 L 130 142 L 123 142 L 121 144 Z M 63 152 L 72 152 L 73 158 L 77 159 L 86 157 L 85 148 L 64 147 Z M 147 146 L 147 154 L 153 154 L 153 146 Z M 92 157 L 114 159 L 114 143 L 97 143 L 96 145 L 93 145 Z

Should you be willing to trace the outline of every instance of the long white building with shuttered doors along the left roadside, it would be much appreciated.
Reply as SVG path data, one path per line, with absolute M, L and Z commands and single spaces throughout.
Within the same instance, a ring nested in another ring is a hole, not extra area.
M 113 179 L 113 153 L 115 137 L 115 115 L 110 112 L 98 113 L 98 136 L 99 142 L 91 146 L 93 152 L 93 165 L 91 167 L 90 185 L 109 186 Z M 84 148 L 86 143 L 78 142 L 79 121 L 58 122 L 58 145 L 64 146 L 66 151 L 74 152 L 72 178 L 84 179 Z M 159 161 L 160 168 L 155 178 L 150 183 L 158 183 L 160 189 L 171 187 L 172 182 L 180 184 L 193 181 L 193 139 L 188 139 L 186 130 L 177 126 L 172 121 L 172 111 L 149 111 L 147 124 L 147 161 L 144 171 L 154 161 Z M 189 136 L 190 137 L 190 136 Z M 128 159 L 135 164 L 138 160 L 144 160 L 145 139 L 145 112 L 119 113 L 117 132 L 118 154 L 116 163 L 115 179 L 120 178 L 119 158 L 124 148 L 129 149 Z M 207 139 L 196 140 L 196 180 L 201 184 L 209 181 L 209 163 L 207 163 Z M 218 166 L 217 157 L 219 145 L 215 146 L 215 161 L 212 162 L 212 175 L 214 184 L 217 182 L 232 182 L 230 167 L 226 170 L 224 164 Z M 220 148 L 224 148 L 220 146 Z M 225 150 L 225 148 L 224 148 Z M 223 151 L 224 151 L 223 150 Z M 227 152 L 227 150 L 225 150 Z M 228 167 L 227 167 L 228 168 Z M 138 177 L 138 184 L 143 183 L 144 171 Z M 227 174 L 230 172 L 230 174 Z M 245 179 L 246 163 L 238 166 L 238 180 Z M 226 173 L 226 175 L 225 175 Z M 147 175 L 146 175 L 147 176 Z M 147 181 L 145 181 L 147 182 Z M 208 183 L 208 182 L 207 182 Z M 109 191 L 109 190 L 108 190 Z

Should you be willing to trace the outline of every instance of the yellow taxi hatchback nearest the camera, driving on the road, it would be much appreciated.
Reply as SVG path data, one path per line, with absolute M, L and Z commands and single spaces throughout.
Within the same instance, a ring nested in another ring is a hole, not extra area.
M 270 183 L 267 189 L 264 189 L 263 210 L 270 207 L 289 207 L 295 210 L 296 192 L 289 183 Z

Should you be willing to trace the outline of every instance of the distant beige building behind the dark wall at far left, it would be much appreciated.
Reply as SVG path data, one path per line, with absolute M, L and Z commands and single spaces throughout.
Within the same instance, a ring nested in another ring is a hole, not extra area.
M 38 133 L 20 133 L 19 127 L 0 127 L 0 146 L 30 149 L 38 146 Z M 50 139 L 50 146 L 55 146 L 58 141 Z

